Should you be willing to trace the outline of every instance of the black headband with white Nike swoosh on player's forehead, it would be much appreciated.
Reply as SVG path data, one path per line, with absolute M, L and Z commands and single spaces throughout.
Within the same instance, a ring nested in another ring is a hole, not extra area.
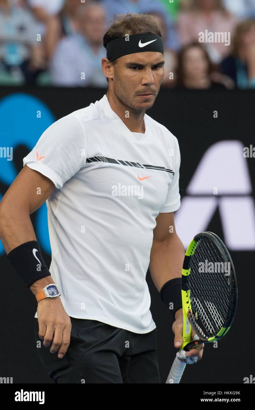
M 162 38 L 152 33 L 132 34 L 111 40 L 106 45 L 108 60 L 115 60 L 122 55 L 143 51 L 157 51 L 164 54 Z

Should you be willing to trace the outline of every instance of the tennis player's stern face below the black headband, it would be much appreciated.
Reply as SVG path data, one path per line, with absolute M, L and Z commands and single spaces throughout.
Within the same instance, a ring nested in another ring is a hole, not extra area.
M 160 52 L 124 55 L 111 68 L 113 82 L 110 85 L 109 79 L 109 87 L 113 87 L 113 92 L 125 106 L 137 111 L 151 108 L 164 77 L 163 66 L 164 56 Z

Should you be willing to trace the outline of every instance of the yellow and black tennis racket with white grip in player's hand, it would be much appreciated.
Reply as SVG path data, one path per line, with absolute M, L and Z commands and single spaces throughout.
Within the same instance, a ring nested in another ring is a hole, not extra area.
M 194 237 L 182 269 L 183 344 L 166 383 L 179 383 L 186 352 L 225 336 L 237 309 L 237 279 L 228 249 L 212 232 Z M 196 333 L 191 341 L 191 328 Z M 186 359 L 187 362 L 189 359 Z

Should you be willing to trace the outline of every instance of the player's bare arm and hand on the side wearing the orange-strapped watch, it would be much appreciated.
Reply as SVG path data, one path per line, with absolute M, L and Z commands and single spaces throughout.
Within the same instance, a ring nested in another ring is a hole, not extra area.
M 28 241 L 36 241 L 30 214 L 38 210 L 55 189 L 54 183 L 28 166 L 20 171 L 0 202 L 0 239 L 7 255 Z M 29 289 L 36 295 L 54 283 L 51 276 L 36 280 Z M 59 297 L 38 303 L 39 335 L 51 352 L 64 355 L 70 343 L 71 323 Z

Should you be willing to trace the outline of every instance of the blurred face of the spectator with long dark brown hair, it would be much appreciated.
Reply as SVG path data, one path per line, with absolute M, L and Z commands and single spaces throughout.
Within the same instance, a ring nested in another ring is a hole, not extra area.
M 208 61 L 199 47 L 192 47 L 183 56 L 183 73 L 186 78 L 201 78 L 208 72 Z

